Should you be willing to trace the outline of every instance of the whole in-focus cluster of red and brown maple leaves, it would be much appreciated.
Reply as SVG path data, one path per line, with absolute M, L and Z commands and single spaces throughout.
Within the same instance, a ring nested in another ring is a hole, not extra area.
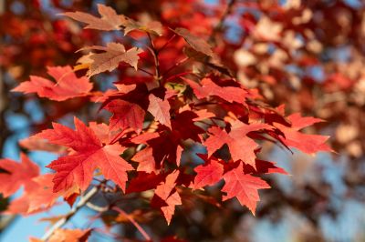
M 113 182 L 116 193 L 151 190 L 153 195 L 147 197 L 151 209 L 161 211 L 168 224 L 187 194 L 198 195 L 212 186 L 222 187 L 223 201 L 236 198 L 255 214 L 258 191 L 270 188 L 262 176 L 287 174 L 274 162 L 258 158 L 263 143 L 308 154 L 331 151 L 325 143 L 328 136 L 301 132 L 320 119 L 286 116 L 285 106 L 267 106 L 256 89 L 236 81 L 204 38 L 157 21 L 137 22 L 109 6 L 98 5 L 98 10 L 100 16 L 64 15 L 86 24 L 85 28 L 122 31 L 133 41 L 86 46 L 79 50 L 84 55 L 75 66 L 48 67 L 51 80 L 31 76 L 13 91 L 55 102 L 88 98 L 110 113 L 109 122 L 86 123 L 75 117 L 74 129 L 53 123 L 23 141 L 29 150 L 59 155 L 47 166 L 52 174 L 40 175 L 25 155 L 22 163 L 0 160 L 5 170 L 0 174 L 0 192 L 9 197 L 25 187 L 23 197 L 14 200 L 7 213 L 43 211 L 58 197 L 73 206 L 94 186 L 93 179 L 101 177 Z M 183 55 L 176 64 L 163 59 L 172 44 Z M 171 74 L 181 66 L 181 72 Z M 112 88 L 96 89 L 93 80 L 117 69 L 129 72 Z M 206 152 L 187 162 L 184 154 L 190 146 L 203 146 Z M 79 237 L 89 232 L 73 231 Z M 53 237 L 69 236 L 63 233 L 57 230 Z

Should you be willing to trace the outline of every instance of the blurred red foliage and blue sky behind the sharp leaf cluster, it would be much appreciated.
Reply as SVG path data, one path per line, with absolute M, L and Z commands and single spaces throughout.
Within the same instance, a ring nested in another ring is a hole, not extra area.
M 75 64 L 79 56 L 74 53 L 84 45 L 118 40 L 120 35 L 83 30 L 57 15 L 76 10 L 95 13 L 98 3 L 140 21 L 157 19 L 163 25 L 183 26 L 195 35 L 213 32 L 209 41 L 237 80 L 257 88 L 271 106 L 285 104 L 287 113 L 325 119 L 308 132 L 331 136 L 330 145 L 338 152 L 292 155 L 265 146 L 265 158 L 276 157 L 292 176 L 267 177 L 273 188 L 261 193 L 256 217 L 235 201 L 216 208 L 192 200 L 184 210 L 177 209 L 170 227 L 162 219 L 141 219 L 142 225 L 149 224 L 158 235 L 177 234 L 189 241 L 365 241 L 365 4 L 361 1 L 0 1 L 1 156 L 16 158 L 18 141 L 51 121 L 95 115 L 95 106 L 85 106 L 83 100 L 57 103 L 10 89 L 29 75 L 46 76 L 46 66 Z M 232 7 L 224 14 L 228 4 Z M 222 16 L 222 31 L 217 31 L 214 26 Z M 172 54 L 173 49 L 168 55 Z M 118 74 L 105 76 L 110 78 Z M 38 154 L 34 159 L 45 165 L 51 158 Z M 1 201 L 1 210 L 6 203 Z M 6 230 L 24 218 L 0 219 L 4 233 L 0 240 L 16 237 L 5 235 Z M 117 233 L 138 234 L 122 218 Z M 91 240 L 113 241 L 99 234 Z

